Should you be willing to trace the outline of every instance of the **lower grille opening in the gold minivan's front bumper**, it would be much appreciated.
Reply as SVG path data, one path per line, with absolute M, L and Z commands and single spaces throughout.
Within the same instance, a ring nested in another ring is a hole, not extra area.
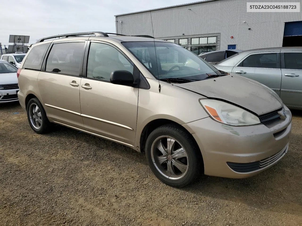
M 284 149 L 282 149 L 280 152 L 276 153 L 275 155 L 272 155 L 271 157 L 262 159 L 260 161 L 249 162 L 249 163 L 226 162 L 226 164 L 235 172 L 249 173 L 255 170 L 259 170 L 265 166 L 268 166 L 276 162 L 282 156 L 282 154 L 286 152 L 287 147 L 288 146 L 286 146 Z

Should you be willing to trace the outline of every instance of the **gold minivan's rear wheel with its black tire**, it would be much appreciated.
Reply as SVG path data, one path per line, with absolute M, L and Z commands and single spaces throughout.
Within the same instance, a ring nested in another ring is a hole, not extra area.
M 27 119 L 31 128 L 36 133 L 48 133 L 50 131 L 50 121 L 38 98 L 32 98 L 27 103 Z

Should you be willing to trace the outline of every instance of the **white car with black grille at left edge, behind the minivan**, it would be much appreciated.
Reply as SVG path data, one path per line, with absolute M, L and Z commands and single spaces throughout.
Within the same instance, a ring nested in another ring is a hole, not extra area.
M 18 101 L 18 68 L 0 60 L 0 103 Z

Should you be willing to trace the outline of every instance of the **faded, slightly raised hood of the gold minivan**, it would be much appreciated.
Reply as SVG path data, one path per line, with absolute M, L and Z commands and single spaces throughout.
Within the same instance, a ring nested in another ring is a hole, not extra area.
M 283 106 L 273 90 L 255 80 L 235 74 L 173 85 L 208 98 L 225 100 L 257 115 L 275 111 Z

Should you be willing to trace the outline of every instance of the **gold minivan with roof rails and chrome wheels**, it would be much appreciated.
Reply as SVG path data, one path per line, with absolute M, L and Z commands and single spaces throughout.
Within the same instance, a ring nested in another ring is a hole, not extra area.
M 145 152 L 170 186 L 200 172 L 249 177 L 288 151 L 291 111 L 272 89 L 151 36 L 42 38 L 17 76 L 36 133 L 57 123 Z

